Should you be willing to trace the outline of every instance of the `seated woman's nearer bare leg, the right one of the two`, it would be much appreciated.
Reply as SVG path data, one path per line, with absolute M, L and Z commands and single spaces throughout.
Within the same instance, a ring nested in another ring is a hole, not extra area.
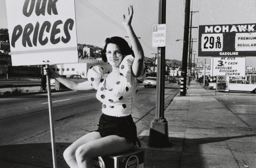
M 81 145 L 75 156 L 79 168 L 91 168 L 91 158 L 127 151 L 133 147 L 124 137 L 110 135 Z

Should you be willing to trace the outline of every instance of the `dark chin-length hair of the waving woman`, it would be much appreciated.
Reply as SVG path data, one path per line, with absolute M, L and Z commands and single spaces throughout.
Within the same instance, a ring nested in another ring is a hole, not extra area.
M 106 59 L 106 46 L 108 46 L 109 43 L 113 43 L 116 44 L 120 47 L 120 51 L 121 53 L 124 55 L 124 57 L 126 55 L 134 55 L 132 48 L 129 46 L 129 44 L 121 37 L 111 37 L 111 38 L 106 38 L 105 40 L 105 46 L 103 48 L 103 50 L 101 51 L 101 57 L 102 57 L 102 61 L 107 62 L 108 60 Z

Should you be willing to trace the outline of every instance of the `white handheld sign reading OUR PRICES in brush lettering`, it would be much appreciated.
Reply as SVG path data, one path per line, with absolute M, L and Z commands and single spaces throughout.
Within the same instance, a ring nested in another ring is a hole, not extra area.
M 13 66 L 78 62 L 74 0 L 6 0 L 6 7 Z

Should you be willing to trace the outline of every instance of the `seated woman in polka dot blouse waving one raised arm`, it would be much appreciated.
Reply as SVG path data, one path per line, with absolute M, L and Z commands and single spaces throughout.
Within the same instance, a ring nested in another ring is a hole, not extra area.
M 129 35 L 133 50 L 120 37 L 107 38 L 102 50 L 102 60 L 112 66 L 111 73 L 104 73 L 101 66 L 88 70 L 88 81 L 77 83 L 51 71 L 51 76 L 75 91 L 97 90 L 102 102 L 102 115 L 98 129 L 69 146 L 63 156 L 70 167 L 93 167 L 91 158 L 124 152 L 138 142 L 136 125 L 131 117 L 132 96 L 145 78 L 144 53 L 132 25 L 133 6 L 123 15 L 123 26 Z

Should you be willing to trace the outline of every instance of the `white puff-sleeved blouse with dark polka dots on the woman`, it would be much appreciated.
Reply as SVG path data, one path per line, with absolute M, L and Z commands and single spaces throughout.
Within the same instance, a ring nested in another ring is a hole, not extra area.
M 109 116 L 124 117 L 132 114 L 132 97 L 137 93 L 137 86 L 146 77 L 145 66 L 139 77 L 131 73 L 134 58 L 127 55 L 119 66 L 120 75 L 111 89 L 105 88 L 105 73 L 101 66 L 93 66 L 88 70 L 88 80 L 97 90 L 96 98 L 102 102 L 102 113 Z

